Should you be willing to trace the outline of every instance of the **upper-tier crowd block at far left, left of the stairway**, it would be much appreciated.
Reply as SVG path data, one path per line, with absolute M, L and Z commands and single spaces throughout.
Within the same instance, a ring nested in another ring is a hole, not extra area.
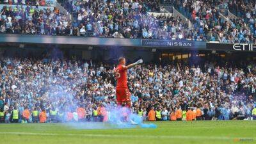
M 57 8 L 4 6 L 1 10 L 1 33 L 29 35 L 71 35 L 72 22 Z

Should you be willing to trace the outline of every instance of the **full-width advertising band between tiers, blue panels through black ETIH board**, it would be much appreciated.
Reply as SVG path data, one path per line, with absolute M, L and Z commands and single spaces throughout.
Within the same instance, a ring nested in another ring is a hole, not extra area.
M 58 45 L 58 47 L 72 48 L 79 45 L 81 48 L 96 47 L 136 47 L 143 49 L 169 50 L 209 50 L 209 51 L 248 51 L 255 52 L 256 44 L 220 44 L 216 42 L 202 42 L 192 40 L 152 40 L 129 38 L 100 38 L 84 36 L 43 36 L 43 35 L 10 35 L 1 34 L 0 44 L 40 44 Z

